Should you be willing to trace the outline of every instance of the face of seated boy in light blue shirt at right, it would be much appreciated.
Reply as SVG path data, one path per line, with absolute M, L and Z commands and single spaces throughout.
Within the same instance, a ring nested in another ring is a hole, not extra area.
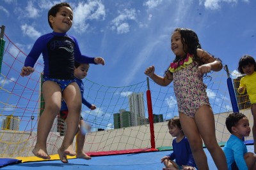
M 232 127 L 233 134 L 238 138 L 243 139 L 244 136 L 249 136 L 251 132 L 251 128 L 249 125 L 248 118 L 241 118 L 235 127 Z

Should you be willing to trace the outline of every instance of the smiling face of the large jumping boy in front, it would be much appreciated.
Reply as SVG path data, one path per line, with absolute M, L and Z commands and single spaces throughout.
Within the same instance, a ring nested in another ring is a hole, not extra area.
M 54 32 L 64 33 L 67 32 L 72 26 L 73 11 L 67 6 L 62 6 L 60 11 L 56 13 L 56 17 L 49 16 Z

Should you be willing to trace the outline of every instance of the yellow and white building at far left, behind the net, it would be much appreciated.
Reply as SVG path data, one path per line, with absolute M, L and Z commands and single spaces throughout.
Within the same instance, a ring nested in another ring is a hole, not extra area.
M 19 131 L 20 119 L 13 115 L 8 115 L 2 122 L 3 130 Z

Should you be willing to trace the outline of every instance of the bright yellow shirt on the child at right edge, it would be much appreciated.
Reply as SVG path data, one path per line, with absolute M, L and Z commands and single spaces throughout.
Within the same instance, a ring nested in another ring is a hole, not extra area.
M 254 71 L 251 75 L 246 75 L 240 80 L 239 87 L 244 87 L 243 94 L 245 89 L 249 95 L 250 102 L 252 104 L 256 103 L 256 71 Z

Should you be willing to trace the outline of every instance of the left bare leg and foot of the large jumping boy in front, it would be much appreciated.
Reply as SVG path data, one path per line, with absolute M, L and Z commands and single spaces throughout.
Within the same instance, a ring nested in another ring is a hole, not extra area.
M 51 131 L 56 113 L 60 110 L 61 91 L 59 85 L 53 81 L 43 83 L 43 95 L 45 100 L 45 109 L 38 121 L 37 140 L 35 148 L 32 150 L 36 157 L 50 159 L 47 153 L 46 140 Z

